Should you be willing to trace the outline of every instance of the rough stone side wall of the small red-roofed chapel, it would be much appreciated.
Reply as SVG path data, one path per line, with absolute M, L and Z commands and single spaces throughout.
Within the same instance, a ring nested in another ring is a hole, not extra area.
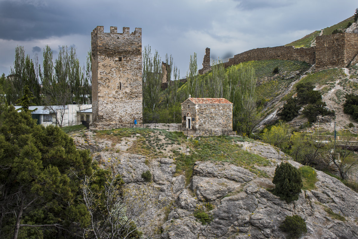
M 232 104 L 199 104 L 195 121 L 200 129 L 232 130 Z

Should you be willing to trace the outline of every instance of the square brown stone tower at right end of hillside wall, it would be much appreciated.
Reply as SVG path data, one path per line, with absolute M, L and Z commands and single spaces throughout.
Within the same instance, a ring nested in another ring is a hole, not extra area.
M 316 71 L 347 67 L 358 54 L 358 34 L 338 33 L 316 37 Z

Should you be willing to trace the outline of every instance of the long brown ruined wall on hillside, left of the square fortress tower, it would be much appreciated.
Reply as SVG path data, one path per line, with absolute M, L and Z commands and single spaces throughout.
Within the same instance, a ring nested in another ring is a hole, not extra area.
M 246 61 L 261 61 L 268 59 L 297 60 L 314 64 L 315 51 L 315 47 L 294 48 L 292 46 L 279 46 L 256 48 L 235 55 L 233 58 L 230 58 L 228 62 L 224 63 L 224 67 L 229 67 Z

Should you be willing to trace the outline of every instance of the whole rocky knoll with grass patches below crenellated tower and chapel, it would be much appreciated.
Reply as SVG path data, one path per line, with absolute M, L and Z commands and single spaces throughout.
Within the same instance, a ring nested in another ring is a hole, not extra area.
M 304 220 L 304 236 L 358 236 L 358 193 L 271 145 L 140 128 L 71 135 L 78 148 L 91 150 L 101 167 L 120 174 L 124 188 L 152 190 L 142 196 L 151 207 L 137 221 L 144 235 L 155 225 L 168 239 L 289 238 L 295 224 L 287 230 L 281 225 L 296 215 Z M 290 203 L 272 190 L 281 162 L 299 169 L 303 183 Z

